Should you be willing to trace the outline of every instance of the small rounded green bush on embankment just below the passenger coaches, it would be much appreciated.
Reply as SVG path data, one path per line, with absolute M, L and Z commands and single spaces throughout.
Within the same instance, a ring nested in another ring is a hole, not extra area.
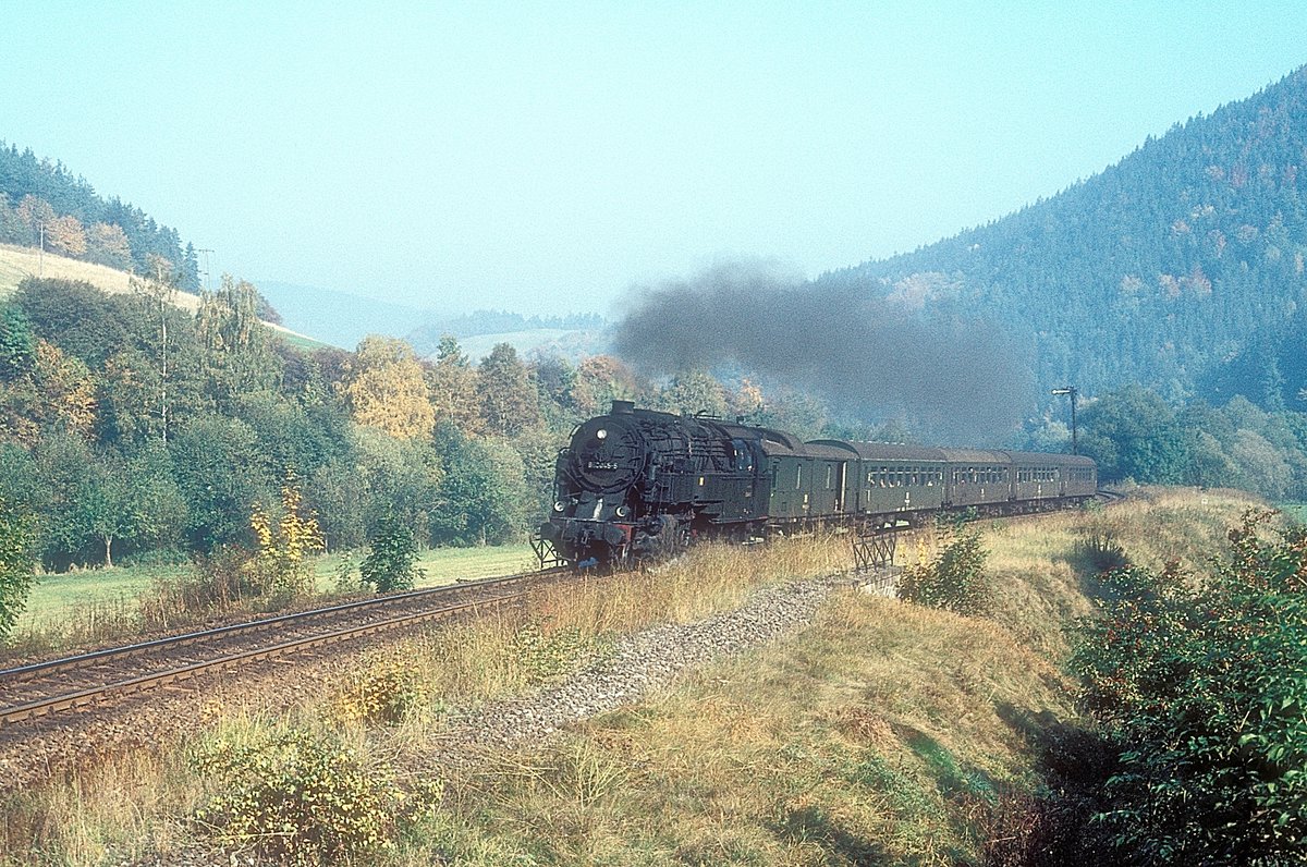
M 989 553 L 980 544 L 980 531 L 953 520 L 941 522 L 937 534 L 935 558 L 908 566 L 899 577 L 899 599 L 959 615 L 983 613 L 991 588 L 984 574 Z

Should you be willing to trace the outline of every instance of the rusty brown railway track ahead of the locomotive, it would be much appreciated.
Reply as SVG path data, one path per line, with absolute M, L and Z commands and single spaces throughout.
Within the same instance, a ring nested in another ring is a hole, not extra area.
M 0 732 L 18 723 L 366 636 L 501 605 L 566 569 L 429 587 L 0 671 Z

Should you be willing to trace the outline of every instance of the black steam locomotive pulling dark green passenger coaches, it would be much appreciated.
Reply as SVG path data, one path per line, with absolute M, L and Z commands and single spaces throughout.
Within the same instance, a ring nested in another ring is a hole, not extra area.
M 674 554 L 698 539 L 763 541 L 818 526 L 921 526 L 1094 497 L 1085 456 L 813 439 L 614 400 L 558 454 L 541 549 L 570 565 Z

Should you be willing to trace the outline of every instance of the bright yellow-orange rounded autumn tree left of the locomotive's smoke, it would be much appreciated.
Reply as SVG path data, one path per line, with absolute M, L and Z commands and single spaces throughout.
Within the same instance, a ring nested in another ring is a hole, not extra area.
M 422 365 L 403 340 L 363 337 L 345 383 L 345 399 L 357 424 L 392 437 L 425 439 L 435 425 Z

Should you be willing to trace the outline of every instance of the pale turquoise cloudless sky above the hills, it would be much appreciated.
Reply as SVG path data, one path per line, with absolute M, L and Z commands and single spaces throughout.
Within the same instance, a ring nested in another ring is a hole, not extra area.
M 209 269 L 621 314 L 910 251 L 1307 63 L 1300 0 L 0 0 L 0 140 Z

